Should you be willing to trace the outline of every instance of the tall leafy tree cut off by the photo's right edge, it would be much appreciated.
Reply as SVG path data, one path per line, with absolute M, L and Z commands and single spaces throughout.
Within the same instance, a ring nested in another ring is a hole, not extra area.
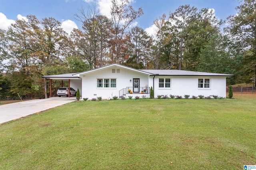
M 238 13 L 228 17 L 226 33 L 246 54 L 248 74 L 256 79 L 256 0 L 241 0 Z M 246 52 L 246 51 L 249 51 Z

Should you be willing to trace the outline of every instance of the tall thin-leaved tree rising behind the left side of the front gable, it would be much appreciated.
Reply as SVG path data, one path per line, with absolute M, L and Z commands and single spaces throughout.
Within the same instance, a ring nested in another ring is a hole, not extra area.
M 81 30 L 74 30 L 76 34 L 80 32 L 80 36 L 75 35 L 76 48 L 81 51 L 83 47 L 84 57 L 88 60 L 90 68 L 96 68 L 103 65 L 104 56 L 106 55 L 106 48 L 108 47 L 108 40 L 110 39 L 112 24 L 110 19 L 106 16 L 98 15 L 96 7 L 89 8 L 85 11 L 81 8 L 77 14 L 75 14 L 76 20 L 82 22 Z M 84 44 L 78 46 L 78 41 L 84 41 Z M 85 43 L 86 42 L 86 43 Z M 86 47 L 85 47 L 86 46 Z M 85 51 L 85 48 L 86 51 Z

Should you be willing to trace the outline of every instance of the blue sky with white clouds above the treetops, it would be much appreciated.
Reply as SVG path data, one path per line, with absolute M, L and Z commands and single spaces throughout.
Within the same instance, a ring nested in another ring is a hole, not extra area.
M 130 0 L 135 9 L 142 7 L 144 14 L 133 25 L 142 27 L 149 34 L 154 32 L 153 21 L 174 12 L 179 6 L 190 4 L 198 9 L 214 10 L 216 18 L 226 20 L 235 15 L 238 0 Z M 74 18 L 78 10 L 96 5 L 100 14 L 109 16 L 111 0 L 0 0 L 0 28 L 7 29 L 17 19 L 26 19 L 27 15 L 42 18 L 55 18 L 62 23 L 63 29 L 70 33 L 73 28 L 80 28 L 81 23 Z

